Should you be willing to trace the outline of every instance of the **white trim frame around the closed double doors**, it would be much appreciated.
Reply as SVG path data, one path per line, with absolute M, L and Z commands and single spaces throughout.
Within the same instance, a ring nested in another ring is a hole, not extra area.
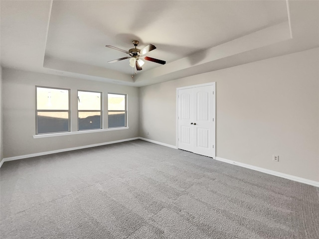
M 190 89 L 190 88 L 196 88 L 196 87 L 202 87 L 202 86 L 214 86 L 215 89 L 215 94 L 213 95 L 213 100 L 215 103 L 214 106 L 214 129 L 215 129 L 215 135 L 214 135 L 214 147 L 215 147 L 215 156 L 213 159 L 216 158 L 216 82 L 210 82 L 210 83 L 204 83 L 204 84 L 198 84 L 198 85 L 191 85 L 191 86 L 183 86 L 183 87 L 178 87 L 176 88 L 176 148 L 178 149 L 178 91 L 179 90 L 184 90 L 184 89 Z

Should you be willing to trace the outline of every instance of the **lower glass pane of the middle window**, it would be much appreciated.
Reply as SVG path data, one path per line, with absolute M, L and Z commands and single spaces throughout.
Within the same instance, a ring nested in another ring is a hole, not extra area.
M 79 130 L 101 128 L 101 112 L 79 112 Z

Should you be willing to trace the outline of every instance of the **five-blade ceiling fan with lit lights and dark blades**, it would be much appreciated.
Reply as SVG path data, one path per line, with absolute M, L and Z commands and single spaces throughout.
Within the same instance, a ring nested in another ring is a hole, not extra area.
M 131 58 L 130 59 L 130 66 L 131 67 L 136 67 L 136 69 L 138 71 L 141 71 L 142 70 L 142 66 L 144 65 L 144 61 L 142 61 L 141 59 L 144 59 L 144 60 L 147 60 L 147 61 L 153 61 L 153 62 L 162 64 L 162 65 L 164 65 L 166 63 L 166 61 L 162 61 L 162 60 L 155 59 L 155 58 L 152 58 L 152 57 L 144 56 L 146 53 L 155 50 L 156 49 L 155 45 L 149 44 L 149 45 L 147 45 L 146 47 L 144 47 L 142 49 L 138 49 L 136 47 L 138 46 L 138 44 L 140 42 L 134 40 L 134 41 L 132 41 L 132 43 L 134 44 L 135 48 L 131 48 L 129 51 L 122 50 L 122 49 L 117 48 L 115 46 L 106 45 L 106 47 L 112 48 L 114 50 L 122 51 L 122 52 L 130 55 L 130 56 L 122 57 L 122 58 L 119 58 L 119 59 L 116 59 L 116 60 L 113 60 L 113 61 L 108 61 L 108 63 L 114 63 L 114 62 L 118 62 L 118 61 L 122 61 L 122 60 Z

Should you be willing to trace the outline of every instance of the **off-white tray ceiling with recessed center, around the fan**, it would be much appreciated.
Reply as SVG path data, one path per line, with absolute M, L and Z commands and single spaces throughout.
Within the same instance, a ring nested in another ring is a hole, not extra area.
M 1 66 L 145 86 L 319 46 L 319 1 L 1 0 Z M 137 75 L 128 50 L 154 44 Z M 132 73 L 134 79 L 132 79 Z

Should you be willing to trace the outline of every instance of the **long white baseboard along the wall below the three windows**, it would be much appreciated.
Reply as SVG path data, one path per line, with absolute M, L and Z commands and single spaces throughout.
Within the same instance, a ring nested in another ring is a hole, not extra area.
M 73 147 L 73 148 L 63 148 L 63 149 L 58 149 L 58 150 L 52 150 L 52 151 L 46 151 L 46 152 L 40 152 L 40 153 L 31 153 L 31 154 L 25 154 L 25 155 L 20 155 L 20 156 L 13 156 L 13 157 L 7 157 L 3 158 L 0 162 L 0 167 L 4 162 L 7 161 L 12 161 L 12 160 L 18 160 L 18 159 L 24 159 L 24 158 L 31 158 L 31 157 L 36 157 L 36 156 L 42 156 L 42 155 L 48 155 L 52 153 L 61 153 L 61 152 L 67 152 L 67 151 L 72 151 L 72 150 L 77 150 L 77 149 L 83 149 L 83 148 L 91 148 L 91 147 L 96 147 L 96 146 L 102 146 L 102 145 L 107 145 L 107 144 L 112 144 L 112 143 L 120 143 L 120 142 L 125 142 L 125 141 L 131 141 L 139 139 L 139 137 L 135 138 L 126 138 L 126 139 L 121 139 L 121 140 L 116 140 L 116 141 L 110 141 L 110 142 L 104 142 L 104 143 L 96 143 L 96 144 L 90 144 L 90 145 L 85 145 L 85 146 L 79 146 L 79 147 Z

